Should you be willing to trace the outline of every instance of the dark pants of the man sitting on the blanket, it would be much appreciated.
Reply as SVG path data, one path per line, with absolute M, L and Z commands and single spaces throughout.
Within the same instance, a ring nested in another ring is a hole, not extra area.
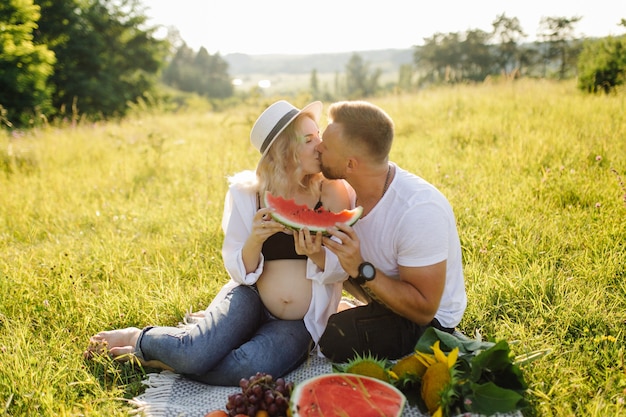
M 415 351 L 420 336 L 431 326 L 448 333 L 454 331 L 442 327 L 437 319 L 420 326 L 371 302 L 330 316 L 319 346 L 324 356 L 336 363 L 346 362 L 355 354 L 399 359 Z

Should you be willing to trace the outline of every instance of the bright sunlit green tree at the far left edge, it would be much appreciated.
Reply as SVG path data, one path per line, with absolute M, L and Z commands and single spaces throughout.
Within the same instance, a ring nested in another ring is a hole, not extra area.
M 51 109 L 47 81 L 55 62 L 46 45 L 33 42 L 40 17 L 32 0 L 0 2 L 0 107 L 10 123 L 24 125 Z

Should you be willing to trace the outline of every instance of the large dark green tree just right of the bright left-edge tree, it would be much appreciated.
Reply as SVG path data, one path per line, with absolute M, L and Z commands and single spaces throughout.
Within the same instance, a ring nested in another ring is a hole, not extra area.
M 123 116 L 151 94 L 167 53 L 139 0 L 36 0 L 37 41 L 57 56 L 53 104 L 92 118 Z

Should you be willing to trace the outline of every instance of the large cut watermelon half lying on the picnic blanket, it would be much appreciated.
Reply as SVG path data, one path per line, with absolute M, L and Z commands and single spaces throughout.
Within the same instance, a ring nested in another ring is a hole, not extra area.
M 393 385 L 368 376 L 333 373 L 296 384 L 292 417 L 400 417 L 406 397 Z

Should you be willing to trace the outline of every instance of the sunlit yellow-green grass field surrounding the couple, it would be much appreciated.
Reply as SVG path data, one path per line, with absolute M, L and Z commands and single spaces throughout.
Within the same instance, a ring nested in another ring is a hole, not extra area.
M 271 101 L 0 132 L 0 414 L 128 414 L 152 370 L 85 362 L 87 340 L 175 325 L 226 282 L 226 176 L 256 165 Z M 525 416 L 626 416 L 626 96 L 521 80 L 373 101 L 392 159 L 455 208 L 461 329 L 551 350 L 523 368 Z

